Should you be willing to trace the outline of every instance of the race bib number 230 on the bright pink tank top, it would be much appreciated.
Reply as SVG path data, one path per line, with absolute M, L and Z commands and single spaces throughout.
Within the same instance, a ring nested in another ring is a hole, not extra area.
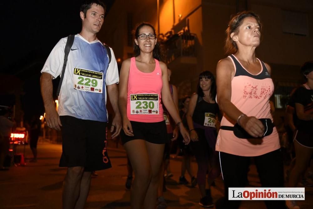
M 131 94 L 131 115 L 159 114 L 158 94 Z

